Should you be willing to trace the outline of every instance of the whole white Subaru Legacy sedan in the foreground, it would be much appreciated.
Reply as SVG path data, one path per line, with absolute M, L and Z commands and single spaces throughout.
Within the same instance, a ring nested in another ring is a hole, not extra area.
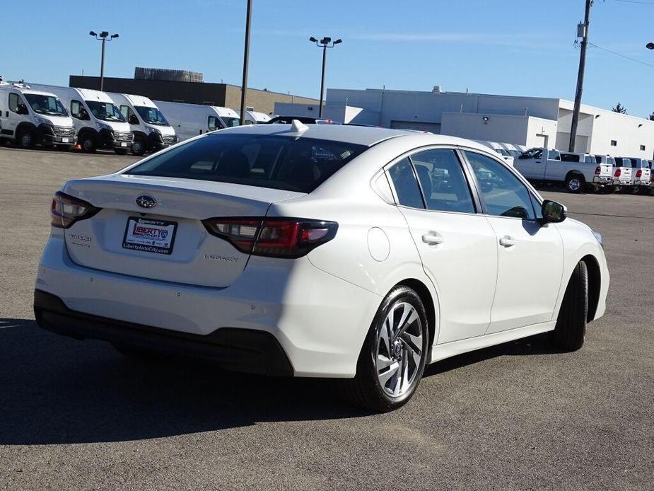
M 345 379 L 373 410 L 428 363 L 605 312 L 602 239 L 465 139 L 347 125 L 202 135 L 52 200 L 34 309 L 125 354 Z

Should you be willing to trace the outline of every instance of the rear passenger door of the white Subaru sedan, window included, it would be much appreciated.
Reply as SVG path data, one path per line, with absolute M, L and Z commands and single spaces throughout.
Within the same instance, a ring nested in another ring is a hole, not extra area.
M 436 342 L 483 335 L 495 293 L 495 233 L 477 213 L 453 149 L 402 158 L 387 173 L 426 275 L 438 292 Z

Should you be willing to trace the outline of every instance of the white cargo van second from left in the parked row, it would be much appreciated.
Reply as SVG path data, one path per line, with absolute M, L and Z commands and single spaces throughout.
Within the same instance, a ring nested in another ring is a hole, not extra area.
M 73 117 L 83 151 L 108 149 L 124 155 L 132 147 L 132 130 L 107 93 L 90 88 L 31 85 L 62 100 Z

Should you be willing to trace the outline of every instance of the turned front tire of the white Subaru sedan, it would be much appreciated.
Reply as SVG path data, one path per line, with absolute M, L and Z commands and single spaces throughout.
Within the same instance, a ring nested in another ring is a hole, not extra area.
M 573 270 L 564 294 L 552 339 L 562 351 L 576 351 L 583 346 L 588 321 L 588 267 L 580 261 Z

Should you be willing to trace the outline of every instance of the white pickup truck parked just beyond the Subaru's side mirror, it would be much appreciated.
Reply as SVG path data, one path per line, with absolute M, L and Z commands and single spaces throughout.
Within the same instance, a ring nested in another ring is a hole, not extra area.
M 581 158 L 585 154 L 567 154 L 568 160 L 561 161 L 558 150 L 535 148 L 525 151 L 515 160 L 514 166 L 528 180 L 540 183 L 564 184 L 569 192 L 583 192 L 590 188 L 613 183 L 613 166 L 596 163 L 594 158 Z M 579 161 L 574 156 L 578 156 Z

